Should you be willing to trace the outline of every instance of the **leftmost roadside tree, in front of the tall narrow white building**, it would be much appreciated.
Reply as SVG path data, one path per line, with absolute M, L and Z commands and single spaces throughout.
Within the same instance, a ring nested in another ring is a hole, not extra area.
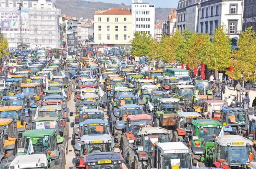
M 154 39 L 150 34 L 147 35 L 146 32 L 140 33 L 136 31 L 132 40 L 132 55 L 148 56 L 153 43 Z

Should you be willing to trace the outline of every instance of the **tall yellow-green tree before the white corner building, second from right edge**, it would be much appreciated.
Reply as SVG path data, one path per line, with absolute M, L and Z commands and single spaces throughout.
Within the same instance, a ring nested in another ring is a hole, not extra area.
M 225 25 L 215 29 L 212 36 L 210 55 L 206 58 L 208 68 L 216 71 L 224 71 L 230 66 L 231 41 L 227 35 Z

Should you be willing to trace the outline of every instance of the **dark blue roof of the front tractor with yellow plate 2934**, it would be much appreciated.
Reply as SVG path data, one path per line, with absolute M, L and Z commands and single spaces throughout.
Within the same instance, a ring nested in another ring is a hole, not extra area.
M 89 153 L 84 157 L 84 164 L 95 162 L 99 160 L 109 160 L 120 161 L 120 163 L 125 163 L 124 158 L 117 152 L 99 152 L 99 153 Z

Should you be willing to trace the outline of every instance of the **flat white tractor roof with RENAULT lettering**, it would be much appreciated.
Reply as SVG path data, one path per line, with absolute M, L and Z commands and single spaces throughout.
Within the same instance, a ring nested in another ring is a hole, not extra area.
M 158 142 L 156 147 L 161 150 L 162 154 L 190 152 L 190 149 L 183 142 Z

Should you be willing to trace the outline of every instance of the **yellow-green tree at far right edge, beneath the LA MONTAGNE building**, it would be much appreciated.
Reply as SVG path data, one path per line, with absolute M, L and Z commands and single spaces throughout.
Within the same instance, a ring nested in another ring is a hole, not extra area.
M 228 76 L 243 82 L 255 81 L 256 34 L 252 27 L 242 32 L 237 47 L 239 50 L 234 50 L 232 53 L 231 66 L 233 66 L 233 71 L 227 71 Z

